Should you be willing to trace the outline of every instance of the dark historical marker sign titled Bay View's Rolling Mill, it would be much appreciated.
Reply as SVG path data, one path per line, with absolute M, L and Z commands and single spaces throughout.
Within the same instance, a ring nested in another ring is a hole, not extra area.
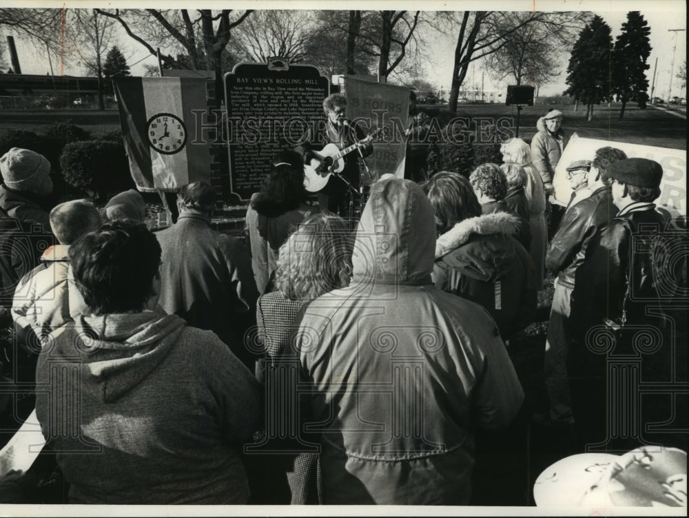
M 225 74 L 227 143 L 232 193 L 248 200 L 270 171 L 276 152 L 325 127 L 330 81 L 311 65 L 286 59 L 240 63 Z

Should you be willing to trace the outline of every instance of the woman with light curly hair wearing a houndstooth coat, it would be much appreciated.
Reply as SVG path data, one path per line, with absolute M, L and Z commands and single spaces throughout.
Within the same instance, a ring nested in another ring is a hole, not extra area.
M 276 375 L 285 366 L 280 355 L 298 328 L 302 307 L 329 291 L 349 285 L 352 273 L 351 232 L 347 222 L 333 214 L 312 214 L 280 247 L 275 276 L 276 291 L 258 299 L 258 342 L 265 356 L 256 364 L 256 377 L 265 384 L 266 436 L 261 444 L 285 444 L 289 437 L 278 433 L 285 426 L 289 388 L 287 377 Z M 336 296 L 336 294 L 333 294 Z M 278 426 L 280 424 L 280 426 Z M 272 448 L 267 448 L 271 450 Z M 286 452 L 287 453 L 287 452 Z M 262 484 L 268 489 L 262 504 L 322 503 L 320 467 L 316 453 L 272 455 L 265 459 Z M 318 474 L 318 475 L 317 475 Z

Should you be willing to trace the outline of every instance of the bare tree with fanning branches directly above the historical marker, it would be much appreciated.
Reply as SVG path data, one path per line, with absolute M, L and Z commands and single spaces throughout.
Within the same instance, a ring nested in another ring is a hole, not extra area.
M 281 56 L 291 63 L 304 61 L 311 28 L 309 12 L 260 10 L 236 29 L 232 48 L 241 59 L 264 63 Z

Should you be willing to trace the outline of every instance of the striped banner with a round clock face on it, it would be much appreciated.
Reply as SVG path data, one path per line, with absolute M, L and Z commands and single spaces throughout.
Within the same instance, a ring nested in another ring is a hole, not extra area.
M 176 191 L 210 183 L 207 142 L 189 134 L 194 111 L 206 110 L 206 79 L 122 77 L 114 79 L 120 123 L 134 183 L 140 191 Z

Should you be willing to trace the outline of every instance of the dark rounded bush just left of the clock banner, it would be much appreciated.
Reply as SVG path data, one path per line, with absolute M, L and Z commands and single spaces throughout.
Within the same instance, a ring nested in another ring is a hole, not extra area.
M 114 141 L 81 141 L 65 145 L 60 165 L 65 181 L 96 203 L 134 188 L 124 145 Z

